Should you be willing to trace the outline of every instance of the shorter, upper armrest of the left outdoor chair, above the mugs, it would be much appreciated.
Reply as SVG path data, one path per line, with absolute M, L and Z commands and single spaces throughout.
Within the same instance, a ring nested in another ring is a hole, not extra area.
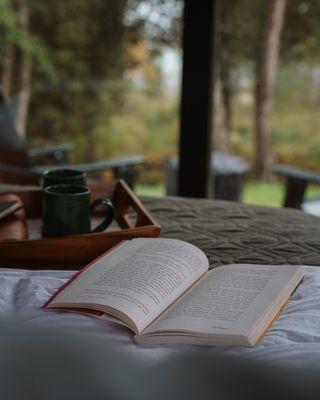
M 71 143 L 63 143 L 44 148 L 27 150 L 28 157 L 33 165 L 54 162 L 55 164 L 68 163 L 68 154 L 73 150 Z

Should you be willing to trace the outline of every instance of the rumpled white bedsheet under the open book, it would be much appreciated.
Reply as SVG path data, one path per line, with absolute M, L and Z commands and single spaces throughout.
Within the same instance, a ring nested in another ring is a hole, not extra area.
M 271 329 L 255 348 L 193 346 L 206 352 L 224 352 L 265 362 L 293 363 L 320 360 L 320 268 L 303 267 L 305 278 Z M 15 315 L 26 324 L 53 324 L 112 340 L 145 361 L 183 352 L 191 346 L 139 348 L 124 328 L 95 317 L 42 310 L 46 300 L 74 271 L 27 271 L 0 269 L 0 313 Z M 198 351 L 196 350 L 196 351 Z

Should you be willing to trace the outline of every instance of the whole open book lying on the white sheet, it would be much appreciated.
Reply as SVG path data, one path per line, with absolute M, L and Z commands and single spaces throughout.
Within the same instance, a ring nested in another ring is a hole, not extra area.
M 133 239 L 81 270 L 44 308 L 117 321 L 142 345 L 252 346 L 303 277 L 293 265 L 208 269 L 189 243 Z

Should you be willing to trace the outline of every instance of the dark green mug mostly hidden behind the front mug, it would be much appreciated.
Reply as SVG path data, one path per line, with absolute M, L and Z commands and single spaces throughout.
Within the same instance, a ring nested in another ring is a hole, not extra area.
M 87 174 L 79 169 L 55 168 L 45 171 L 41 186 L 45 189 L 53 185 L 86 185 Z

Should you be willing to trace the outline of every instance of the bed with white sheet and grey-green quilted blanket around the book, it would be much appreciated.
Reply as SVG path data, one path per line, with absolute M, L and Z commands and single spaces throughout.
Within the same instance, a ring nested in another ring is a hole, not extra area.
M 233 202 L 143 198 L 162 225 L 162 237 L 180 238 L 207 254 L 210 268 L 229 263 L 300 264 L 305 279 L 272 328 L 253 349 L 206 348 L 264 362 L 295 365 L 320 359 L 320 219 L 296 210 Z M 79 314 L 44 311 L 41 305 L 75 272 L 0 270 L 0 312 L 27 325 L 91 332 L 138 359 L 157 360 L 188 346 L 139 348 L 131 334 L 111 322 Z

